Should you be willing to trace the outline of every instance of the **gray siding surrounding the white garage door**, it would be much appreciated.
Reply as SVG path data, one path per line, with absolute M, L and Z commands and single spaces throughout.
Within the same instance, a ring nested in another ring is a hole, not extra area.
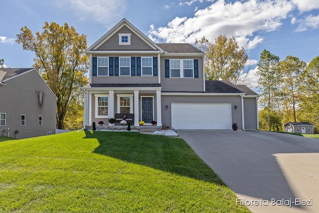
M 162 124 L 171 127 L 171 103 L 231 103 L 232 122 L 236 122 L 239 129 L 242 129 L 241 118 L 241 97 L 240 96 L 187 96 L 187 95 L 162 95 L 161 115 Z M 168 109 L 166 109 L 166 105 Z M 234 106 L 237 106 L 237 110 Z M 191 117 L 191 115 L 190 115 Z M 191 123 L 191 118 L 189 120 Z

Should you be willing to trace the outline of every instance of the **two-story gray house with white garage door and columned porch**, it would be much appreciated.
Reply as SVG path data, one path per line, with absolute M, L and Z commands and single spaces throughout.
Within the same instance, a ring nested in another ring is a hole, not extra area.
M 229 81 L 207 81 L 204 53 L 187 43 L 154 43 L 125 18 L 87 49 L 90 84 L 84 126 L 117 113 L 134 126 L 157 121 L 174 129 L 258 129 L 258 94 Z

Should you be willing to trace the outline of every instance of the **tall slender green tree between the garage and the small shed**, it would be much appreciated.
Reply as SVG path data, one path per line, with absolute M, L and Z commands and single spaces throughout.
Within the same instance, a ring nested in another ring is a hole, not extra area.
M 281 73 L 279 69 L 279 57 L 264 49 L 260 54 L 260 60 L 257 63 L 257 75 L 259 92 L 262 98 L 260 102 L 267 107 L 268 111 L 268 127 L 271 131 L 270 112 L 273 108 L 272 101 L 278 96 L 281 84 Z

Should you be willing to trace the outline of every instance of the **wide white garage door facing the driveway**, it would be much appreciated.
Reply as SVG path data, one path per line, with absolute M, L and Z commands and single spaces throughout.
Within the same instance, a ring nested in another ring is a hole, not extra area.
M 174 129 L 231 129 L 231 104 L 171 103 Z

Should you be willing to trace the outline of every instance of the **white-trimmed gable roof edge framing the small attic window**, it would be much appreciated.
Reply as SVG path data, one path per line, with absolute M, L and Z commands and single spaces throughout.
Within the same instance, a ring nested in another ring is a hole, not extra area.
M 90 53 L 92 50 L 96 50 L 99 46 L 101 46 L 104 42 L 106 42 L 110 37 L 112 37 L 123 26 L 128 27 L 138 37 L 140 37 L 144 42 L 146 42 L 148 45 L 150 45 L 154 50 L 158 50 L 160 52 L 163 52 L 163 50 L 156 43 L 154 43 L 150 38 L 148 38 L 144 33 L 142 33 L 138 28 L 136 28 L 132 23 L 130 23 L 126 18 L 123 18 L 112 29 L 110 29 L 107 33 L 105 33 L 99 40 L 97 40 L 94 44 L 92 44 L 89 48 L 87 48 L 86 52 Z

